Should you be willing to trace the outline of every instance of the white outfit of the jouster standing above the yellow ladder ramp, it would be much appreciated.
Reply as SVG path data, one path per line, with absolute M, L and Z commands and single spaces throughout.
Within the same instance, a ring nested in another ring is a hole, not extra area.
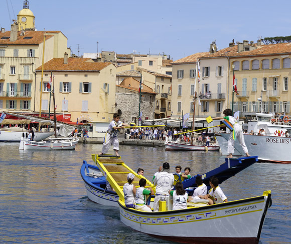
M 102 153 L 106 154 L 111 146 L 113 145 L 113 150 L 119 151 L 119 143 L 118 143 L 118 133 L 119 130 L 114 130 L 113 127 L 116 127 L 118 125 L 121 125 L 122 123 L 120 121 L 115 122 L 112 120 L 109 124 L 108 130 L 104 137 L 103 147 L 102 147 Z

